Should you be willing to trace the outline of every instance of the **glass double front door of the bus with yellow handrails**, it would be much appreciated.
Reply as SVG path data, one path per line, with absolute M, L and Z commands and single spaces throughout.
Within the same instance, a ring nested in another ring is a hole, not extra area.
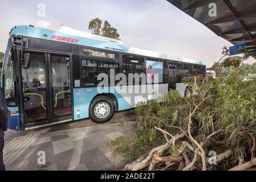
M 25 127 L 72 118 L 69 55 L 31 52 L 21 69 Z

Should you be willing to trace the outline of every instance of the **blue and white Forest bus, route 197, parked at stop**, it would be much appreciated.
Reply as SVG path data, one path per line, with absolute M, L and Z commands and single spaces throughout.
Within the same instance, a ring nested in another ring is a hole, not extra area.
M 104 123 L 115 111 L 132 109 L 155 93 L 97 92 L 97 75 L 147 73 L 155 69 L 159 96 L 177 89 L 182 96 L 188 84 L 182 77 L 205 75 L 202 61 L 180 59 L 158 52 L 124 46 L 120 40 L 39 22 L 10 31 L 2 67 L 2 88 L 11 116 L 9 129 L 25 130 L 53 123 L 91 118 Z M 127 87 L 133 87 L 128 85 Z M 133 88 L 132 88 L 133 89 Z

